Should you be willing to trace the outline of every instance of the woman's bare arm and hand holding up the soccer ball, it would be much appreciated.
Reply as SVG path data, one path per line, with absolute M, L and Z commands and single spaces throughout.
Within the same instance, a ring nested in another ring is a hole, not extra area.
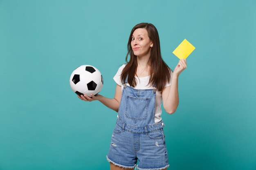
M 99 100 L 102 104 L 104 104 L 108 108 L 111 108 L 112 110 L 115 110 L 116 112 L 118 112 L 121 95 L 122 95 L 121 86 L 117 84 L 114 99 L 110 99 L 99 94 L 96 96 L 91 95 L 92 97 L 88 97 L 87 95 L 84 95 L 84 96 L 81 95 L 78 97 L 84 101 L 89 101 L 89 102 L 92 102 L 93 100 Z

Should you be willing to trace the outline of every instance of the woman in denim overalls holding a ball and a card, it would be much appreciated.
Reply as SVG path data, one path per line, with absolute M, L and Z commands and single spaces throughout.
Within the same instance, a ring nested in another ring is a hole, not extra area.
M 186 68 L 186 59 L 172 71 L 162 59 L 157 29 L 149 23 L 132 28 L 127 46 L 126 64 L 113 78 L 117 82 L 114 99 L 99 94 L 78 97 L 89 102 L 99 100 L 118 112 L 106 155 L 111 170 L 166 170 L 169 164 L 161 103 L 167 113 L 175 112 L 178 77 Z

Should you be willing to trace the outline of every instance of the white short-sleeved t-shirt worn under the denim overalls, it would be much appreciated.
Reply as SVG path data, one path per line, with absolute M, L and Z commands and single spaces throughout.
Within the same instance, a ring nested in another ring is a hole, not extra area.
M 121 67 L 119 67 L 116 75 L 113 77 L 113 79 L 115 80 L 115 82 L 121 86 L 121 91 L 123 91 L 123 84 L 121 82 L 121 72 L 123 71 L 124 67 L 125 67 L 126 64 L 123 64 Z M 171 77 L 173 75 L 173 72 L 171 71 Z M 146 86 L 148 84 L 148 81 L 149 81 L 149 78 L 150 76 L 147 76 L 147 77 L 136 77 L 136 80 L 137 80 L 137 85 L 136 89 L 149 89 L 149 88 L 153 88 L 153 86 Z M 129 83 L 127 82 L 127 86 L 130 86 Z M 166 86 L 171 86 L 171 79 L 170 79 L 170 82 L 166 83 Z M 162 108 L 161 108 L 161 104 L 162 104 L 162 93 L 159 92 L 158 90 L 156 91 L 155 93 L 155 117 L 154 117 L 154 121 L 155 121 L 155 124 L 159 123 L 159 121 L 162 120 L 162 117 L 161 117 L 161 114 L 162 114 Z M 117 117 L 118 117 L 118 114 L 117 114 Z

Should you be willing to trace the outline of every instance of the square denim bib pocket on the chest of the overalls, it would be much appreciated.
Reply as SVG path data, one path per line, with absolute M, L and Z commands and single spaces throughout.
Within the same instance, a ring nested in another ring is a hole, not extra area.
M 150 98 L 127 96 L 126 117 L 132 120 L 146 120 L 148 115 L 149 99 Z

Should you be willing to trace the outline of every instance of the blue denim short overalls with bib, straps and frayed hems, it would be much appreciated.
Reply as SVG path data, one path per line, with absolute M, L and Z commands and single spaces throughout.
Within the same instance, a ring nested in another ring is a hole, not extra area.
M 135 89 L 126 84 L 127 77 L 106 158 L 124 168 L 164 169 L 169 164 L 164 121 L 154 122 L 155 85 L 153 89 Z

